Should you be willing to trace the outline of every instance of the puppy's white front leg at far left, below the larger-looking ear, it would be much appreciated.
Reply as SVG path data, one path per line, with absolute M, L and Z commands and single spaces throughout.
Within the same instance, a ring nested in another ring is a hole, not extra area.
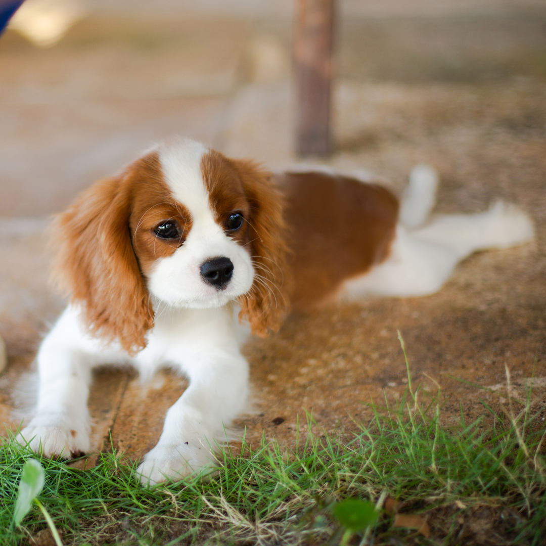
M 79 339 L 77 317 L 69 308 L 38 352 L 38 404 L 16 440 L 47 457 L 70 459 L 90 450 L 91 357 L 79 347 Z

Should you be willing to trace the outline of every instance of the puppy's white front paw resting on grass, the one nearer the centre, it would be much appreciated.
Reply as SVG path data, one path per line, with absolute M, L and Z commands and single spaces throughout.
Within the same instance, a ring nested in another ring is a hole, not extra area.
M 214 466 L 214 455 L 204 445 L 190 446 L 158 444 L 144 456 L 136 473 L 143 485 L 155 485 L 167 480 L 181 480 Z

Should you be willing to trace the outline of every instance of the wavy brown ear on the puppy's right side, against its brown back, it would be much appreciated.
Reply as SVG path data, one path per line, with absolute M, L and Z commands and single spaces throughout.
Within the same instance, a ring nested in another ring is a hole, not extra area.
M 290 274 L 287 268 L 283 197 L 271 174 L 250 161 L 233 161 L 250 203 L 248 233 L 254 282 L 239 298 L 239 319 L 247 319 L 252 333 L 277 331 L 289 311 Z

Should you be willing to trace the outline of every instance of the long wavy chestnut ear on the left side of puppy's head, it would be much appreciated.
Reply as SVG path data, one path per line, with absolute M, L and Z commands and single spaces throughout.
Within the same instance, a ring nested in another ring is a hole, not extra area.
M 50 228 L 52 277 L 81 307 L 91 334 L 135 354 L 146 346 L 153 309 L 129 232 L 138 162 L 101 180 L 57 215 Z

